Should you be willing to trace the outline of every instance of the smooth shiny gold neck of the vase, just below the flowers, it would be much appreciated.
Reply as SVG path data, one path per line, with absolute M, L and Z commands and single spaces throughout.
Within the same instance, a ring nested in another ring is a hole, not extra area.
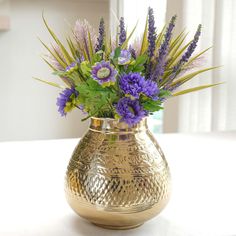
M 147 119 L 142 119 L 139 123 L 130 127 L 125 122 L 121 122 L 116 119 L 111 118 L 96 118 L 92 117 L 90 119 L 90 130 L 97 132 L 140 132 L 148 129 Z

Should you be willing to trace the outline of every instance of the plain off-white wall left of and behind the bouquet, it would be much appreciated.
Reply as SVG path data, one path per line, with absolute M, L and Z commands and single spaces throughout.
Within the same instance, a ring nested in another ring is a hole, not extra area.
M 40 59 L 45 52 L 37 36 L 52 41 L 42 23 L 41 13 L 63 38 L 77 18 L 86 18 L 97 28 L 104 16 L 106 0 L 9 0 L 11 29 L 0 32 L 0 141 L 51 139 L 81 136 L 87 123 L 79 111 L 61 118 L 57 112 L 58 90 L 32 79 L 37 76 L 56 81 L 57 77 Z M 3 6 L 2 6 L 3 7 Z M 0 3 L 1 8 L 1 3 Z M 66 20 L 66 21 L 65 21 Z

